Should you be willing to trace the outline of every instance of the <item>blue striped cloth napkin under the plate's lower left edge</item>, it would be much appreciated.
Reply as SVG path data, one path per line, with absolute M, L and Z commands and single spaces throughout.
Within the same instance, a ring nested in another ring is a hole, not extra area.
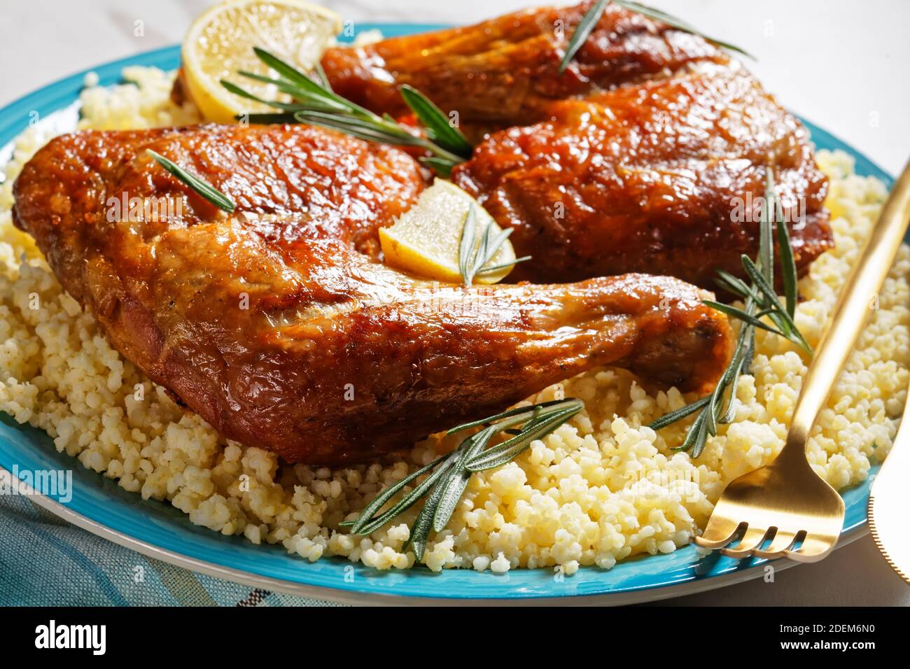
M 3 606 L 334 606 L 188 572 L 0 496 Z

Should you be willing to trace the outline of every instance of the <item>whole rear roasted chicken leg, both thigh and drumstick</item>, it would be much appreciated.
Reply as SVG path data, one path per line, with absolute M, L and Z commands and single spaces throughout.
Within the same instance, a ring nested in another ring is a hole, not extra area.
M 802 124 L 701 37 L 616 5 L 560 75 L 588 6 L 331 49 L 323 66 L 376 112 L 401 113 L 397 86 L 410 84 L 466 127 L 506 127 L 452 179 L 534 258 L 510 280 L 638 271 L 713 288 L 715 269 L 742 276 L 768 167 L 788 215 L 801 217 L 791 237 L 804 274 L 833 239 L 827 180 Z

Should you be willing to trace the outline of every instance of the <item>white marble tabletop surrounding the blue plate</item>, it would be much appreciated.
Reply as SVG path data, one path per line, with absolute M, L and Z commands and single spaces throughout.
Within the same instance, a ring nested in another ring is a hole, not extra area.
M 758 56 L 750 64 L 796 113 L 895 174 L 910 157 L 910 3 L 902 0 L 649 0 Z M 210 0 L 0 0 L 0 106 L 77 70 L 180 41 Z M 468 23 L 533 0 L 325 0 L 354 21 Z M 537 3 L 540 4 L 540 3 Z M 136 37 L 137 19 L 145 35 Z M 672 600 L 708 604 L 910 605 L 868 537 L 823 563 Z

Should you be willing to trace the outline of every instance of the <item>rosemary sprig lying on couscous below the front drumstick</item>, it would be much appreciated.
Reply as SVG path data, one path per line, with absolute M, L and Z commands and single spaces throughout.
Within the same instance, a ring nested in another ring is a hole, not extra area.
M 426 498 L 423 508 L 411 525 L 410 539 L 406 546 L 406 548 L 410 546 L 420 561 L 423 559 L 430 530 L 440 532 L 449 524 L 461 495 L 468 487 L 471 473 L 500 467 L 514 460 L 519 454 L 531 448 L 531 441 L 550 434 L 581 411 L 582 407 L 581 400 L 573 398 L 552 400 L 530 407 L 503 411 L 480 421 L 471 421 L 454 427 L 446 434 L 477 427 L 481 429 L 465 437 L 454 451 L 411 472 L 401 481 L 379 492 L 360 512 L 357 519 L 339 524 L 341 527 L 349 528 L 351 534 L 371 534 L 410 509 L 420 499 Z M 516 431 L 519 426 L 521 429 Z M 500 432 L 514 433 L 514 436 L 487 449 L 490 440 Z M 405 492 L 398 502 L 380 512 L 399 492 L 424 475 L 426 478 Z

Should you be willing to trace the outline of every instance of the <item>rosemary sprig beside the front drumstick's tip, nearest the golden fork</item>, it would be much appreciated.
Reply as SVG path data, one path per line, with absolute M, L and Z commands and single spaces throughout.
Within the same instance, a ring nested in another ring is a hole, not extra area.
M 781 255 L 781 273 L 786 295 L 786 307 L 781 304 L 773 289 L 773 230 L 776 224 L 777 240 Z M 736 385 L 743 370 L 749 370 L 755 348 L 755 329 L 764 329 L 793 341 L 797 346 L 812 355 L 812 347 L 804 339 L 794 322 L 796 309 L 796 266 L 790 236 L 784 223 L 780 202 L 774 193 L 773 173 L 768 168 L 765 177 L 765 196 L 762 207 L 762 219 L 759 228 L 758 262 L 743 255 L 743 270 L 751 283 L 734 277 L 723 270 L 717 271 L 717 283 L 723 289 L 744 300 L 743 309 L 733 307 L 711 299 L 702 300 L 704 304 L 722 311 L 728 316 L 740 319 L 743 325 L 736 340 L 733 358 L 723 371 L 713 392 L 700 400 L 695 400 L 681 409 L 672 411 L 653 421 L 649 427 L 660 430 L 673 422 L 680 421 L 698 412 L 682 445 L 674 451 L 690 451 L 693 458 L 702 454 L 709 437 L 717 434 L 717 425 L 733 421 Z M 773 323 L 763 320 L 767 317 Z

